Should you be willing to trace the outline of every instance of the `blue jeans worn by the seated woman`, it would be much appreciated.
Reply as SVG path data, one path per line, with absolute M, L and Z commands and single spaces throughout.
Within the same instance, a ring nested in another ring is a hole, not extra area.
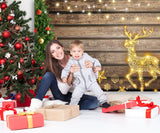
M 68 92 L 68 94 L 63 95 L 58 88 L 56 77 L 51 72 L 46 72 L 44 74 L 36 93 L 36 98 L 42 100 L 49 88 L 56 100 L 70 102 L 72 93 Z M 79 101 L 79 106 L 81 110 L 95 109 L 99 106 L 99 101 L 95 96 L 84 94 Z

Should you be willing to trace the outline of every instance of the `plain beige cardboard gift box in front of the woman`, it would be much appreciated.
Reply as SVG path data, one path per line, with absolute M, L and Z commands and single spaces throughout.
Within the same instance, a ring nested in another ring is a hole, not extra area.
M 65 121 L 79 115 L 79 105 L 50 105 L 38 109 L 45 120 Z

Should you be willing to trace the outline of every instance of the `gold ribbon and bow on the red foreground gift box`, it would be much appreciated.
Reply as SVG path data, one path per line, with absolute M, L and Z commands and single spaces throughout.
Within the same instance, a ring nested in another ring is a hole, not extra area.
M 30 112 L 19 112 L 19 116 L 27 115 L 27 120 L 28 120 L 28 128 L 33 128 L 33 119 L 32 115 L 34 114 L 33 111 Z

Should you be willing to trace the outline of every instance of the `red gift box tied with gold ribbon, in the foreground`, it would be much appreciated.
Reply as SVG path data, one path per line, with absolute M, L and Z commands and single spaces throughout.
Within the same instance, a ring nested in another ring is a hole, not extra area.
M 41 113 L 21 112 L 18 115 L 8 115 L 7 127 L 11 130 L 27 129 L 44 126 L 44 119 Z

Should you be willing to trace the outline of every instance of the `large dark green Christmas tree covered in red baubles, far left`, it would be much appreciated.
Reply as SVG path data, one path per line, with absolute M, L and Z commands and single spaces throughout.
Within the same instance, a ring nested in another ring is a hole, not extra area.
M 0 3 L 0 89 L 7 89 L 7 96 L 16 94 L 23 103 L 26 95 L 33 97 L 31 90 L 39 84 L 43 65 L 35 59 L 35 35 L 27 24 L 31 18 L 24 19 L 20 3 Z

